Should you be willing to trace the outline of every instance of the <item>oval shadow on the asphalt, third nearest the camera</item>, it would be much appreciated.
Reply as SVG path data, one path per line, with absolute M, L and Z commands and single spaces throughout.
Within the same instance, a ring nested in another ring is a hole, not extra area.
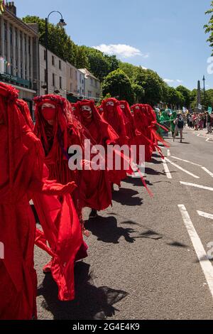
M 133 197 L 136 195 L 138 195 L 138 191 L 136 190 L 132 190 L 129 188 L 120 188 L 119 191 L 115 191 L 112 194 L 112 199 L 116 203 L 121 203 L 121 205 L 140 206 L 143 204 L 143 201 L 139 197 Z

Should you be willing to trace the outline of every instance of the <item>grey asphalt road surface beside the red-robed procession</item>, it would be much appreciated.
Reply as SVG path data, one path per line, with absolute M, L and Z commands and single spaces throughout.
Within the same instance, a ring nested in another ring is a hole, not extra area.
M 39 319 L 213 319 L 213 135 L 197 134 L 186 129 L 184 144 L 169 137 L 170 151 L 163 149 L 183 170 L 165 161 L 165 173 L 153 155 L 146 166 L 153 198 L 129 178 L 114 192 L 113 208 L 87 222 L 89 257 L 75 266 L 75 301 L 58 301 L 42 271 L 49 258 L 35 249 Z

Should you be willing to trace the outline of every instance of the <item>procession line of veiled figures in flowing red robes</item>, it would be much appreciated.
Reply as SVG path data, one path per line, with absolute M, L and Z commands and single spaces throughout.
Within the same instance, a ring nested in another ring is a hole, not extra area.
M 111 188 L 126 171 L 71 171 L 69 148 L 84 139 L 92 144 L 144 145 L 146 161 L 160 151 L 156 117 L 146 104 L 106 99 L 99 110 L 93 101 L 72 105 L 67 99 L 35 97 L 35 126 L 18 91 L 0 82 L 0 319 L 36 318 L 37 279 L 34 244 L 48 252 L 50 271 L 60 301 L 75 298 L 74 264 L 87 257 L 82 209 L 90 217 L 111 205 Z M 85 166 L 89 161 L 82 160 Z M 33 200 L 42 230 L 35 227 Z M 2 247 L 1 247 L 2 248 Z

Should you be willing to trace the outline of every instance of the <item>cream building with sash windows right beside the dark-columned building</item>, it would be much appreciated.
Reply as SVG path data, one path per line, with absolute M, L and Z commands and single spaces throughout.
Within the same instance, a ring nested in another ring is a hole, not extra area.
M 40 95 L 46 94 L 46 50 L 39 45 Z M 67 64 L 48 50 L 48 84 L 49 94 L 67 97 Z

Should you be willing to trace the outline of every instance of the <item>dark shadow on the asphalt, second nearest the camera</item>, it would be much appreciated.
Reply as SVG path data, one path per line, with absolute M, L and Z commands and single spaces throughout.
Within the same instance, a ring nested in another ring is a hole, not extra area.
M 87 220 L 85 227 L 97 237 L 98 241 L 119 244 L 121 237 L 131 244 L 135 241 L 134 237 L 131 237 L 131 233 L 135 231 L 131 228 L 118 227 L 116 218 L 112 216 Z

